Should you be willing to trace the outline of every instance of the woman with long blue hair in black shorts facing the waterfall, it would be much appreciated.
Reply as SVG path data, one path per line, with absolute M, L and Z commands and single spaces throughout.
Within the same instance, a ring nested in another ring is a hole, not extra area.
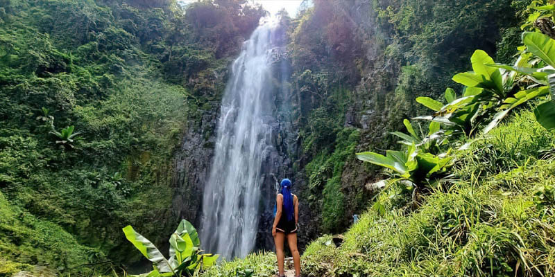
M 299 220 L 299 200 L 297 195 L 289 192 L 291 181 L 283 179 L 280 193 L 275 197 L 275 218 L 273 220 L 272 235 L 275 242 L 275 254 L 278 256 L 279 276 L 285 276 L 283 271 L 284 251 L 283 244 L 287 238 L 289 250 L 295 263 L 295 276 L 300 276 L 300 256 L 297 249 L 297 223 Z

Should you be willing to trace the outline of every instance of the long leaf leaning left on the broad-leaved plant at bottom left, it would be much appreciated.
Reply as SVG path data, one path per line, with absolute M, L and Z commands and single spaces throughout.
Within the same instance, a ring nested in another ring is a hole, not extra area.
M 123 233 L 125 233 L 127 240 L 133 243 L 133 245 L 141 251 L 143 256 L 150 260 L 160 272 L 172 271 L 169 267 L 168 260 L 164 258 L 160 250 L 158 250 L 150 240 L 147 240 L 141 234 L 137 233 L 132 226 L 128 225 L 123 228 Z

